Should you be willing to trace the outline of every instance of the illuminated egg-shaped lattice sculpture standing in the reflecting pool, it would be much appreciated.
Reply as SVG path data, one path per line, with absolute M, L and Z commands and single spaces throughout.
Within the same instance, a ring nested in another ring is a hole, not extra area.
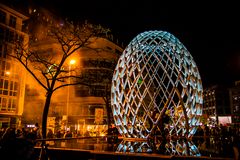
M 113 74 L 115 125 L 123 138 L 136 141 L 156 134 L 191 138 L 200 125 L 202 93 L 197 65 L 175 36 L 165 31 L 140 33 Z

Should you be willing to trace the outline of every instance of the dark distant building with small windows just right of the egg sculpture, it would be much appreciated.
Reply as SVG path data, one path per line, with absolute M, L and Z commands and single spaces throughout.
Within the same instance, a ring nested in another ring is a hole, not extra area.
M 228 88 L 214 85 L 204 89 L 203 114 L 214 117 L 218 121 L 219 116 L 231 114 Z

